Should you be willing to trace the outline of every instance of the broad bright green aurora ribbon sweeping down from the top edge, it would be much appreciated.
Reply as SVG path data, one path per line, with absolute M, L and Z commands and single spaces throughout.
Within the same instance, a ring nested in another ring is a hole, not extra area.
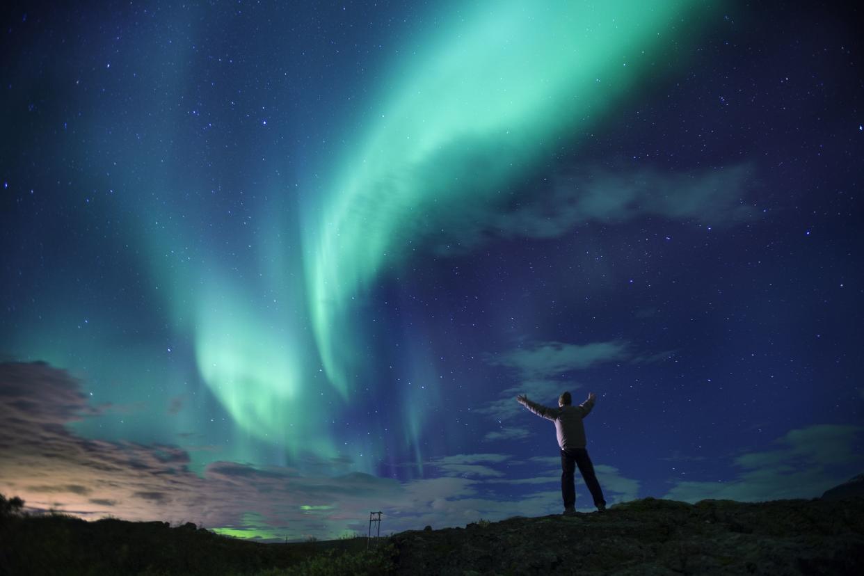
M 441 37 L 422 42 L 425 54 L 397 66 L 396 87 L 365 136 L 349 142 L 304 229 L 314 339 L 344 398 L 363 358 L 356 304 L 376 277 L 446 236 L 458 214 L 496 210 L 508 184 L 574 143 L 639 80 L 666 73 L 658 57 L 717 3 L 471 6 L 444 19 Z

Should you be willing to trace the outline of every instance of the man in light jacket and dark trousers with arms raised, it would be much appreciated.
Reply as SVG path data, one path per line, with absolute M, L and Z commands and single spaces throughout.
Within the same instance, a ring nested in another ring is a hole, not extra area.
M 594 506 L 600 512 L 606 510 L 603 491 L 600 490 L 600 483 L 594 475 L 594 465 L 591 464 L 588 450 L 585 449 L 585 426 L 582 424 L 582 419 L 594 408 L 597 400 L 594 392 L 588 394 L 588 400 L 579 406 L 571 406 L 569 392 L 558 397 L 558 408 L 547 408 L 531 402 L 524 394 L 516 396 L 516 400 L 534 414 L 555 422 L 558 446 L 561 446 L 561 494 L 564 497 L 564 514 L 569 516 L 576 513 L 576 487 L 573 478 L 575 466 L 579 466 L 582 479 L 594 497 Z

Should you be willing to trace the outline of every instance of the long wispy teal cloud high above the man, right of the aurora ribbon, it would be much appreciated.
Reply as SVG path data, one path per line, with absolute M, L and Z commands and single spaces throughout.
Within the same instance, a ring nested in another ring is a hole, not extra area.
M 448 212 L 447 225 L 439 227 L 446 233 L 430 241 L 435 241 L 435 252 L 449 254 L 497 237 L 555 238 L 589 222 L 622 223 L 646 216 L 734 225 L 756 212 L 741 201 L 754 172 L 749 162 L 678 174 L 656 168 L 560 169 L 547 178 L 547 187 L 531 187 L 518 204 L 467 204 Z

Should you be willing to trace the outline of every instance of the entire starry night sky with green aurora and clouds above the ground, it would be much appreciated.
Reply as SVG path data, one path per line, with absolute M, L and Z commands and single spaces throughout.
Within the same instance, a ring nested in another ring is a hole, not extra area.
M 557 513 L 515 397 L 564 390 L 610 503 L 860 473 L 861 10 L 811 4 L 6 9 L 0 492 L 259 539 Z

